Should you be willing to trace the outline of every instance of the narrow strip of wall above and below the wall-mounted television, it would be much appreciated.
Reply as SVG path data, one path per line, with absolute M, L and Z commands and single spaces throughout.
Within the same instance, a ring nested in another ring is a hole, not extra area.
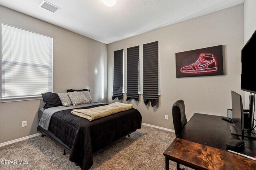
M 244 44 L 250 39 L 256 30 L 256 0 L 244 1 Z M 245 92 L 244 103 L 249 108 L 249 92 Z

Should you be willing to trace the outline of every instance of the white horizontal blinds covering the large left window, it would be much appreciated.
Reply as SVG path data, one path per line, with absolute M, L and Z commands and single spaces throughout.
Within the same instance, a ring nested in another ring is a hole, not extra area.
M 2 98 L 52 92 L 52 37 L 2 23 Z

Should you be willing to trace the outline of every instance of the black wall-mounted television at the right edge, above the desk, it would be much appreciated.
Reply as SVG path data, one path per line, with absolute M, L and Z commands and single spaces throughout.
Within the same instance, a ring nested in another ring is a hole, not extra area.
M 252 80 L 256 77 L 256 31 L 248 40 L 241 53 L 241 90 L 256 93 Z

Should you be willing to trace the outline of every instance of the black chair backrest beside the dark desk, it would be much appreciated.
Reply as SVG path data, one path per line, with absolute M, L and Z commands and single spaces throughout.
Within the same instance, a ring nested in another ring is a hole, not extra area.
M 177 137 L 182 128 L 188 123 L 183 100 L 178 100 L 172 105 L 172 120 L 175 136 Z

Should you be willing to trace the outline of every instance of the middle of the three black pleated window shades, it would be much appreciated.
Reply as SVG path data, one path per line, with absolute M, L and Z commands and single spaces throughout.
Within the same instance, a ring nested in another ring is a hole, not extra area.
M 127 98 L 139 100 L 139 46 L 127 49 Z

